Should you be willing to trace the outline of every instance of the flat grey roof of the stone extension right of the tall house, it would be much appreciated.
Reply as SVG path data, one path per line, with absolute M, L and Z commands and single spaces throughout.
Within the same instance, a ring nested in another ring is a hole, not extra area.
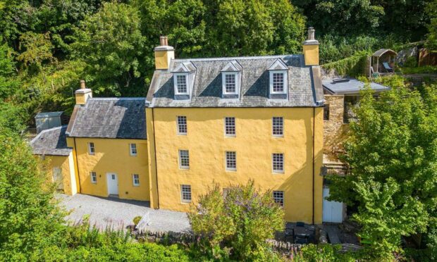
M 365 84 L 355 78 L 346 78 L 343 80 L 324 80 L 322 85 L 331 94 L 359 94 L 359 91 L 364 88 Z M 370 87 L 375 92 L 390 90 L 390 87 L 379 85 L 375 82 L 370 82 Z

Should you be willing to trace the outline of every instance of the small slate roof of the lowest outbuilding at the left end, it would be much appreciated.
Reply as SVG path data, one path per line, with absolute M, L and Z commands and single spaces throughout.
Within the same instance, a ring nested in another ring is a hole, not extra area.
M 67 126 L 63 125 L 40 132 L 37 137 L 30 142 L 33 154 L 68 156 L 72 149 L 67 147 L 66 129 Z

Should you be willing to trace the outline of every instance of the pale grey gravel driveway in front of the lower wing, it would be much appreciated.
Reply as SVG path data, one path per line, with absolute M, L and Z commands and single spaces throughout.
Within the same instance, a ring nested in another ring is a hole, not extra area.
M 59 194 L 61 204 L 71 213 L 66 217 L 72 223 L 78 223 L 84 216 L 90 217 L 90 224 L 99 229 L 111 227 L 119 230 L 133 225 L 135 216 L 142 216 L 138 225 L 141 230 L 189 232 L 190 223 L 183 212 L 155 210 L 149 208 L 148 201 L 135 201 L 116 198 L 104 198 L 87 194 L 68 196 Z

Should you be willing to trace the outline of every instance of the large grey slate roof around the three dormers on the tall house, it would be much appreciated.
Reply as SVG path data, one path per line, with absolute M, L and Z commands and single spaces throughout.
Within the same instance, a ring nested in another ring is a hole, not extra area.
M 288 99 L 269 97 L 269 67 L 281 59 L 288 66 Z M 221 70 L 228 63 L 242 68 L 240 99 L 223 99 Z M 175 99 L 173 73 L 181 63 L 195 66 L 191 99 Z M 147 94 L 150 107 L 314 107 L 321 106 L 323 94 L 320 77 L 313 77 L 312 68 L 304 66 L 302 55 L 252 56 L 230 58 L 174 59 L 168 70 L 156 70 Z M 319 70 L 317 71 L 319 72 Z M 319 88 L 319 90 L 316 90 Z

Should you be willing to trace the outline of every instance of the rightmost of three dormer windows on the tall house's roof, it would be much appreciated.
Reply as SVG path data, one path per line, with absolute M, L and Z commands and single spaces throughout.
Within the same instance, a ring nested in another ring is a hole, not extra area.
M 269 86 L 271 99 L 287 99 L 288 66 L 278 58 L 269 68 Z

